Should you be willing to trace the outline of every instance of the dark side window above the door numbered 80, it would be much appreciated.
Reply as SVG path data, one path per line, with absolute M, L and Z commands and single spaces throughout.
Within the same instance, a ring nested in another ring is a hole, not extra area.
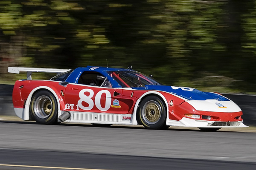
M 81 74 L 78 79 L 78 84 L 82 85 L 91 85 L 91 86 L 102 86 L 102 87 L 110 87 L 110 82 L 108 79 L 102 74 L 98 72 L 85 71 Z M 112 87 L 112 86 L 111 86 Z

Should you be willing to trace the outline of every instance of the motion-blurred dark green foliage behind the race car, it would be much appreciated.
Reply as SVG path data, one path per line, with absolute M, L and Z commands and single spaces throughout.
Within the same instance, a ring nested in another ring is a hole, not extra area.
M 2 81 L 19 77 L 8 66 L 106 66 L 106 59 L 166 85 L 256 92 L 256 1 L 0 1 Z

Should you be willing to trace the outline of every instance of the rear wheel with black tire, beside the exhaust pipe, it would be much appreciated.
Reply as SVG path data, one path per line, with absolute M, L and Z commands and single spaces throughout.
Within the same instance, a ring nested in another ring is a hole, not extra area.
M 30 103 L 30 113 L 38 124 L 58 125 L 58 104 L 55 96 L 46 90 L 36 92 Z

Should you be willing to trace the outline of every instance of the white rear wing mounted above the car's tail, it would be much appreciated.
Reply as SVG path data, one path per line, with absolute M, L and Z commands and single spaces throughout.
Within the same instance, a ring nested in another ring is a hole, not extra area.
M 27 72 L 27 80 L 32 80 L 32 72 L 37 73 L 65 73 L 70 71 L 69 69 L 57 69 L 57 68 L 30 68 L 30 67 L 8 67 L 8 73 L 20 74 L 20 71 Z

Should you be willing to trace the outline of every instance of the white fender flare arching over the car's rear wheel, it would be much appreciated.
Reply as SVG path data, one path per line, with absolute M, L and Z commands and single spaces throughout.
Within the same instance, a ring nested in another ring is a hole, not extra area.
M 26 104 L 25 104 L 25 108 L 24 108 L 23 120 L 29 120 L 29 106 L 30 106 L 30 102 L 31 102 L 32 96 L 33 96 L 33 94 L 35 94 L 35 91 L 44 90 L 44 89 L 50 91 L 55 96 L 55 98 L 57 100 L 57 104 L 58 104 L 58 117 L 61 115 L 60 101 L 59 101 L 60 99 L 59 99 L 58 95 L 56 94 L 56 92 L 52 88 L 49 88 L 47 86 L 39 86 L 37 88 L 34 88 L 30 92 L 30 94 L 29 94 L 29 96 L 28 96 L 28 98 L 26 100 Z

